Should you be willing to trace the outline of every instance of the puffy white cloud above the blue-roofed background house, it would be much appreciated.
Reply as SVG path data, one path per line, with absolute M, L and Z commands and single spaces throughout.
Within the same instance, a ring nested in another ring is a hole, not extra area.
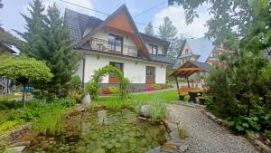
M 177 27 L 179 34 L 183 34 L 184 37 L 201 37 L 208 31 L 208 27 L 205 26 L 206 21 L 210 19 L 208 14 L 207 5 L 202 5 L 198 8 L 199 18 L 194 18 L 192 24 L 185 23 L 185 14 L 182 6 L 170 6 L 164 8 L 159 13 L 154 15 L 154 26 L 158 27 L 164 22 L 164 17 L 168 16 L 173 25 Z

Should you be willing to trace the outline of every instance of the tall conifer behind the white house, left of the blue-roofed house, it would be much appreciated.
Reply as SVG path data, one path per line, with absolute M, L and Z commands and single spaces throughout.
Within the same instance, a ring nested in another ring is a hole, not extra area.
M 176 61 L 176 55 L 179 50 L 177 44 L 179 41 L 178 37 L 176 36 L 178 33 L 177 28 L 173 25 L 173 22 L 170 20 L 169 17 L 164 17 L 164 23 L 159 25 L 158 29 L 158 37 L 167 41 L 170 44 L 167 57 L 171 62 Z M 180 47 L 180 46 L 179 46 Z

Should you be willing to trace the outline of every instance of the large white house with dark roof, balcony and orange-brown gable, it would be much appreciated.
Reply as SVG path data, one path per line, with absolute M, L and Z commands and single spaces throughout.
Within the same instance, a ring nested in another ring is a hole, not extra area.
M 103 21 L 88 14 L 65 10 L 65 23 L 75 49 L 81 55 L 79 75 L 83 83 L 91 80 L 95 70 L 108 64 L 124 72 L 137 88 L 165 83 L 169 43 L 139 33 L 126 5 Z M 117 83 L 115 74 L 102 80 L 102 87 Z

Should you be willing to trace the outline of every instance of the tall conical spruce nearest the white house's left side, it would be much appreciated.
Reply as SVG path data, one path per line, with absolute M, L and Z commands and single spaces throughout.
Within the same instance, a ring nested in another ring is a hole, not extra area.
M 63 97 L 68 94 L 72 74 L 78 68 L 78 56 L 73 50 L 69 30 L 65 27 L 63 18 L 54 4 L 48 8 L 45 18 L 46 27 L 43 37 L 44 47 L 42 58 L 48 62 L 53 73 L 48 91 Z

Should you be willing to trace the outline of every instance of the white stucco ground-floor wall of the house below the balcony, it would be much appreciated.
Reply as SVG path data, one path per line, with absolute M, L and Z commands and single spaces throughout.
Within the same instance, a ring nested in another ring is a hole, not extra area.
M 122 62 L 124 63 L 123 69 L 125 76 L 130 80 L 131 83 L 145 83 L 145 69 L 146 66 L 155 67 L 155 83 L 165 83 L 166 76 L 166 65 L 163 63 L 155 62 L 141 62 L 138 61 L 135 64 L 135 60 L 123 59 L 119 57 L 111 57 L 106 55 L 90 54 L 87 53 L 85 62 L 85 81 L 91 80 L 91 75 L 93 75 L 95 70 L 106 66 L 109 62 Z M 80 63 L 79 69 L 82 69 L 82 62 Z M 82 78 L 82 70 L 78 71 L 80 78 Z M 108 76 L 102 81 L 103 83 L 108 82 Z

